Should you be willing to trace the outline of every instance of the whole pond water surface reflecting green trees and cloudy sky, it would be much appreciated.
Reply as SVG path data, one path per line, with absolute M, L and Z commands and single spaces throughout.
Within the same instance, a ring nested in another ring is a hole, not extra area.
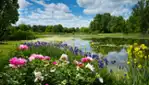
M 84 52 L 97 53 L 104 55 L 108 61 L 116 61 L 115 64 L 109 64 L 109 70 L 117 70 L 119 66 L 127 67 L 127 52 L 126 49 L 129 45 L 138 43 L 146 44 L 149 46 L 149 40 L 145 39 L 124 39 L 124 38 L 91 38 L 91 39 L 80 39 L 74 38 L 63 42 L 72 47 L 78 47 Z M 126 71 L 126 69 L 123 69 Z

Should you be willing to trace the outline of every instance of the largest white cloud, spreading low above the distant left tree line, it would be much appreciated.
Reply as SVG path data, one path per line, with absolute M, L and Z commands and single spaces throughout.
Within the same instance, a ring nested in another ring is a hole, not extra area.
M 32 13 L 28 16 L 20 16 L 19 21 L 16 23 L 17 25 L 21 23 L 30 25 L 62 24 L 65 27 L 81 27 L 88 26 L 91 21 L 89 19 L 83 18 L 82 16 L 74 15 L 69 7 L 63 3 L 46 4 L 42 1 L 34 2 L 42 5 L 44 10 L 38 8 L 32 11 Z M 26 13 L 27 11 L 28 10 L 26 10 Z

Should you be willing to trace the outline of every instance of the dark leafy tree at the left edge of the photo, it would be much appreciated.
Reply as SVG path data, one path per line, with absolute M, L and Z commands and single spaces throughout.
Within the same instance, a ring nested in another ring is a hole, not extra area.
M 0 0 L 0 40 L 4 39 L 7 27 L 18 20 L 18 0 Z

